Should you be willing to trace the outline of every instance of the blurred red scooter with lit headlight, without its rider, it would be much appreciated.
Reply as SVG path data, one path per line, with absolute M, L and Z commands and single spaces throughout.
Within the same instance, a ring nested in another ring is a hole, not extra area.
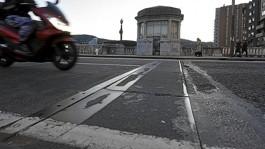
M 76 39 L 71 38 L 69 23 L 56 4 L 48 2 L 47 7 L 41 8 L 33 4 L 34 7 L 30 9 L 44 24 L 43 29 L 35 32 L 28 41 L 33 54 L 16 52 L 15 49 L 19 45 L 18 28 L 7 26 L 4 18 L 0 20 L 0 65 L 2 67 L 9 67 L 14 62 L 53 62 L 60 70 L 68 70 L 75 64 Z

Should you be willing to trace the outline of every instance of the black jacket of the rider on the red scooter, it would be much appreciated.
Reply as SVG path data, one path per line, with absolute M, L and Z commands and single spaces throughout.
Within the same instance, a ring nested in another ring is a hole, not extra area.
M 9 15 L 28 17 L 30 8 L 28 5 L 20 5 L 23 3 L 35 4 L 34 0 L 6 0 L 5 2 L 0 3 L 1 18 Z

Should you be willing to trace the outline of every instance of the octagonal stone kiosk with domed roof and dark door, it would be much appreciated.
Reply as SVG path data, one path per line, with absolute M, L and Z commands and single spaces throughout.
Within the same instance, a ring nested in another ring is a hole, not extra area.
M 136 55 L 180 56 L 180 9 L 157 6 L 138 12 Z

